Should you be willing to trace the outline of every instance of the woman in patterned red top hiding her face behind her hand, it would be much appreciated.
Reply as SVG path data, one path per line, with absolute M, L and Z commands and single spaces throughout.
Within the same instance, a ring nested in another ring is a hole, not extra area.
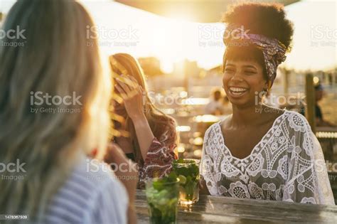
M 132 55 L 111 55 L 110 64 L 115 90 L 122 97 L 122 101 L 114 101 L 114 113 L 124 121 L 116 122 L 115 129 L 128 135 L 116 137 L 114 142 L 137 162 L 140 181 L 169 174 L 171 162 L 177 158 L 174 119 L 151 102 L 143 70 Z

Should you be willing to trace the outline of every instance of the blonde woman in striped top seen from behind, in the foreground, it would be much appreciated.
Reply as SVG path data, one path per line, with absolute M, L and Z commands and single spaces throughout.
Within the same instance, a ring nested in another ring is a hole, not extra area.
M 1 169 L 1 214 L 29 223 L 126 223 L 128 210 L 134 217 L 137 181 L 124 187 L 85 156 L 93 147 L 105 154 L 111 92 L 87 26 L 89 14 L 70 0 L 16 1 L 6 16 L 4 31 L 18 27 L 23 37 L 0 40 L 0 163 L 20 169 Z M 119 148 L 109 152 L 129 166 Z

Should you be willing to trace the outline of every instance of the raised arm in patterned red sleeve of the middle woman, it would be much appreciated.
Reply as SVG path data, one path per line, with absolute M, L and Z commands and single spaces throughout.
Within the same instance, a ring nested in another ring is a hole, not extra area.
M 134 78 L 121 75 L 120 79 L 136 83 Z M 177 156 L 174 153 L 176 148 L 176 127 L 172 122 L 163 128 L 169 127 L 157 139 L 154 137 L 149 122 L 144 114 L 143 90 L 139 85 L 127 85 L 122 80 L 117 79 L 116 89 L 122 95 L 125 110 L 134 123 L 137 140 L 144 160 L 144 166 L 139 167 L 140 180 L 146 178 L 162 177 L 172 169 L 171 162 Z

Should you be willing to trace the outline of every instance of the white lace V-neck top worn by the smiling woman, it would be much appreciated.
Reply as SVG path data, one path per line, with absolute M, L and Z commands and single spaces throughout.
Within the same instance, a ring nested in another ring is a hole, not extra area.
M 252 149 L 237 159 L 220 122 L 205 133 L 200 175 L 213 196 L 334 205 L 321 146 L 306 118 L 284 111 Z

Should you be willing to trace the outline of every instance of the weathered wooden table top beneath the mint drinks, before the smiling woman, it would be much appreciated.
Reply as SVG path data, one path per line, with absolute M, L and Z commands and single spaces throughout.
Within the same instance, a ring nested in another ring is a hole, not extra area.
M 145 191 L 137 190 L 138 223 L 149 223 Z M 337 223 L 337 206 L 202 196 L 179 206 L 178 223 Z

